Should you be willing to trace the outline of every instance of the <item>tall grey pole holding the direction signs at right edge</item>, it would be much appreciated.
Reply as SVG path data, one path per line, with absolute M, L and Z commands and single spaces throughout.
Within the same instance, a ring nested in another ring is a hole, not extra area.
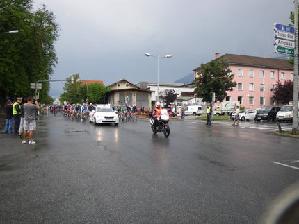
M 293 127 L 292 133 L 298 131 L 298 0 L 294 1 L 295 25 L 295 58 L 294 58 L 294 89 L 293 89 Z

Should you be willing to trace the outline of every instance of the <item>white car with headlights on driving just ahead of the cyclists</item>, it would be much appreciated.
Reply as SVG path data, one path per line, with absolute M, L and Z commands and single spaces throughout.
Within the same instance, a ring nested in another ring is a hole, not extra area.
M 99 104 L 96 107 L 92 107 L 92 110 L 89 112 L 89 122 L 93 122 L 95 125 L 97 123 L 114 123 L 115 126 L 118 126 L 120 121 L 118 114 L 112 110 L 110 105 Z

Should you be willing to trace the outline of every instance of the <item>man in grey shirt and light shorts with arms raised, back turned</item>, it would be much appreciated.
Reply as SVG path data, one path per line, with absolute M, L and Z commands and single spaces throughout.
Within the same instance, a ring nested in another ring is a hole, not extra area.
M 27 132 L 29 131 L 29 144 L 35 144 L 36 142 L 33 141 L 33 130 L 36 129 L 35 123 L 35 111 L 40 110 L 40 106 L 38 105 L 38 101 L 35 101 L 33 104 L 33 98 L 29 96 L 27 98 L 27 103 L 24 104 L 24 139 L 22 144 L 26 144 L 26 137 Z

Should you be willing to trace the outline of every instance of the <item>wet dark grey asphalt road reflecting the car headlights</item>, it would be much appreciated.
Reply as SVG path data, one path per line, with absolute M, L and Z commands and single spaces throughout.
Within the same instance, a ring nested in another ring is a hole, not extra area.
M 49 116 L 36 145 L 0 135 L 0 222 L 257 223 L 299 180 L 273 164 L 299 160 L 299 139 L 227 122 L 171 121 L 170 130 Z

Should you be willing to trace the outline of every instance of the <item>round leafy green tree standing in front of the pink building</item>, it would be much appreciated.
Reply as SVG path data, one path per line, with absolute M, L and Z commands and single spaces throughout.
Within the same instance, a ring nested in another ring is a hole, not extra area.
M 216 101 L 223 101 L 227 96 L 226 92 L 236 87 L 236 82 L 233 82 L 234 74 L 224 60 L 201 64 L 197 72 L 200 76 L 195 79 L 195 93 L 204 102 L 211 103 L 213 92 Z

